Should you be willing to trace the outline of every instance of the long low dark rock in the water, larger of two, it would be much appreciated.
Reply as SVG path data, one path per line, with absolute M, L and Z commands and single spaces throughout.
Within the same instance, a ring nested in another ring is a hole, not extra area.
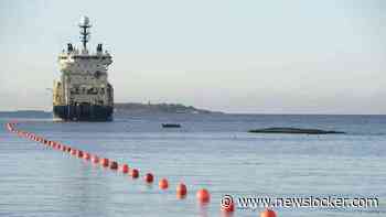
M 345 132 L 320 129 L 302 129 L 302 128 L 262 128 L 249 130 L 254 133 L 292 133 L 292 134 L 342 134 Z

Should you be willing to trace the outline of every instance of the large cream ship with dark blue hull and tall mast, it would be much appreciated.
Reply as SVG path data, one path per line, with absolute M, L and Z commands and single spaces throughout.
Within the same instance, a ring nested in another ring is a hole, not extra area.
M 53 113 L 55 120 L 111 121 L 114 89 L 107 79 L 112 63 L 107 51 L 98 44 L 96 52 L 87 48 L 90 22 L 83 17 L 79 22 L 82 47 L 67 44 L 58 55 L 61 77 L 54 82 Z

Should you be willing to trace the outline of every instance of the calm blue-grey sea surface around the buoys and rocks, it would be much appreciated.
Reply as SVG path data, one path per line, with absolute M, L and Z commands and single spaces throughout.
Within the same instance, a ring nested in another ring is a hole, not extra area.
M 127 162 L 171 188 L 146 185 L 121 173 L 15 137 L 18 129 Z M 221 216 L 223 195 L 377 197 L 377 208 L 276 208 L 280 217 L 385 217 L 386 116 L 173 115 L 116 117 L 114 122 L 52 122 L 0 115 L 0 216 Z M 162 129 L 179 122 L 181 129 Z M 248 129 L 307 127 L 347 134 L 251 134 Z M 187 185 L 176 199 L 175 184 Z M 212 194 L 199 206 L 195 191 Z M 237 204 L 236 204 L 237 206 Z M 261 208 L 234 216 L 258 216 Z

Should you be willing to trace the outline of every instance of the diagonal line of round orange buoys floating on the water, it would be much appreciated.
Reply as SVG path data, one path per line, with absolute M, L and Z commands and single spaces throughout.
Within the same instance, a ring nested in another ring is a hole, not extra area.
M 117 161 L 112 161 L 110 159 L 100 158 L 96 154 L 75 149 L 69 145 L 62 144 L 56 141 L 47 140 L 41 135 L 37 135 L 32 132 L 21 131 L 15 128 L 15 122 L 9 122 L 6 123 L 6 128 L 8 131 L 17 133 L 20 138 L 26 138 L 35 142 L 40 142 L 43 145 L 46 145 L 49 148 L 52 148 L 53 150 L 62 151 L 64 153 L 68 153 L 75 158 L 83 159 L 85 161 L 89 161 L 93 164 L 100 165 L 106 169 L 110 169 L 112 171 L 119 171 L 124 174 L 128 174 L 128 176 L 131 176 L 132 178 L 139 177 L 139 170 L 138 169 L 131 169 L 128 164 L 118 164 Z M 147 184 L 152 184 L 154 182 L 154 175 L 152 173 L 146 173 L 143 176 L 143 181 Z M 161 178 L 158 183 L 160 189 L 168 189 L 169 188 L 169 182 L 167 178 Z M 187 187 L 184 183 L 179 183 L 175 187 L 175 194 L 176 198 L 183 199 L 187 195 Z M 211 200 L 211 194 L 206 188 L 199 189 L 196 192 L 196 199 L 200 204 L 207 204 Z M 229 204 L 230 206 L 227 206 L 227 208 L 224 208 L 222 206 L 221 210 L 224 213 L 233 213 L 234 211 L 234 204 Z M 262 213 L 260 213 L 260 217 L 277 217 L 276 213 L 271 209 L 266 209 Z

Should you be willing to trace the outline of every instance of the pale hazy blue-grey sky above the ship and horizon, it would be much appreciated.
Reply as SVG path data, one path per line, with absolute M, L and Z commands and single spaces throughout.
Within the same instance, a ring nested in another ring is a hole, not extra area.
M 51 109 L 81 15 L 114 57 L 116 101 L 386 113 L 382 0 L 0 0 L 0 110 Z

